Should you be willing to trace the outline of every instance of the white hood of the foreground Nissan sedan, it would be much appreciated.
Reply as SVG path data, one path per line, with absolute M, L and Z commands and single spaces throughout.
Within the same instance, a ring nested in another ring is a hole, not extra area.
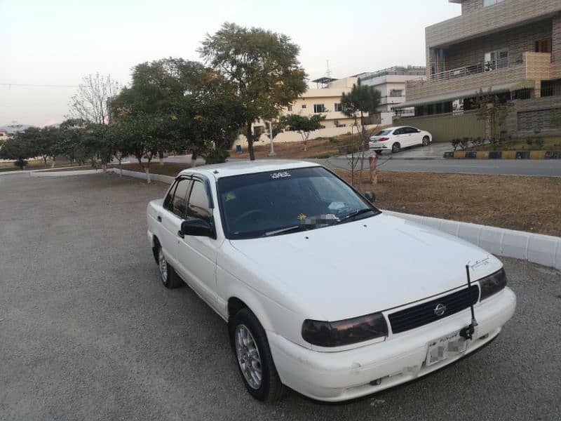
M 502 267 L 457 237 L 384 213 L 342 225 L 231 240 L 252 261 L 272 300 L 296 300 L 305 318 L 327 321 L 391 309 L 466 285 Z M 255 285 L 259 288 L 259 285 Z M 292 305 L 290 307 L 293 307 Z

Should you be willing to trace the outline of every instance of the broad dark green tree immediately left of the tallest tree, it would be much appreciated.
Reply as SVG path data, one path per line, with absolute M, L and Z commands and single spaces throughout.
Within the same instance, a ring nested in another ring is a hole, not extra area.
M 136 116 L 154 123 L 149 124 L 151 137 L 144 139 L 144 153 L 150 150 L 151 156 L 161 156 L 171 149 L 190 150 L 194 159 L 203 155 L 208 163 L 226 158 L 245 122 L 234 86 L 214 69 L 181 58 L 135 66 L 133 83 L 111 101 L 111 110 L 118 126 L 121 120 L 126 122 L 126 133 Z M 129 152 L 142 152 L 130 136 L 121 138 L 132 142 L 125 145 Z

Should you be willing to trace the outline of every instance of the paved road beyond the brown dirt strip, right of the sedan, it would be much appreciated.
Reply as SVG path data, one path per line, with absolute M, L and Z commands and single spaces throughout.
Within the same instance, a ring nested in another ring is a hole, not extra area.
M 350 168 L 345 158 L 313 159 L 329 168 Z M 367 166 L 367 163 L 366 163 Z M 561 177 L 561 159 L 392 159 L 379 160 L 380 171 Z

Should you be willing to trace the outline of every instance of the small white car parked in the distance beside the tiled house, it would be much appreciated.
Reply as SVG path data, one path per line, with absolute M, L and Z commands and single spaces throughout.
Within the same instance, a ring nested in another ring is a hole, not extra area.
M 428 131 L 411 126 L 398 126 L 384 128 L 373 135 L 368 142 L 368 149 L 374 150 L 377 154 L 381 154 L 385 150 L 397 154 L 405 147 L 427 146 L 432 141 L 433 135 Z

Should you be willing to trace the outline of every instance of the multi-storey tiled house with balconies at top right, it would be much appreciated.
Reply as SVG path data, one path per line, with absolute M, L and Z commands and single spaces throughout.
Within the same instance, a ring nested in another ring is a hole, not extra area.
M 408 81 L 398 107 L 414 107 L 415 118 L 457 115 L 482 90 L 513 100 L 511 135 L 556 131 L 550 115 L 561 107 L 561 0 L 449 1 L 461 4 L 461 15 L 426 27 L 426 80 Z

